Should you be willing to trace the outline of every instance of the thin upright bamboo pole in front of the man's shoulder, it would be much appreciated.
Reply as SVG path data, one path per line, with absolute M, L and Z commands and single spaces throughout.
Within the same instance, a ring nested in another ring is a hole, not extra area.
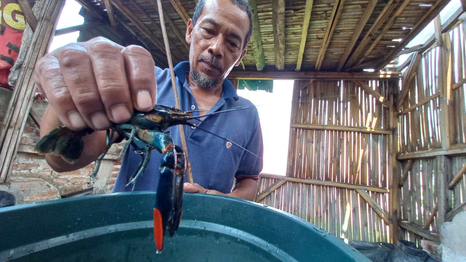
M 162 1 L 157 0 L 157 4 L 158 4 L 158 16 L 160 18 L 160 24 L 162 26 L 162 33 L 164 35 L 165 50 L 166 50 L 167 59 L 168 59 L 168 66 L 170 68 L 171 85 L 173 87 L 173 95 L 175 96 L 175 105 L 176 105 L 176 108 L 180 109 L 181 107 L 180 107 L 179 98 L 178 98 L 178 88 L 177 88 L 177 84 L 175 80 L 175 72 L 173 71 L 173 63 L 171 62 L 170 46 L 168 43 L 167 31 L 165 29 L 164 12 L 162 11 Z M 189 161 L 188 148 L 186 146 L 185 130 L 183 129 L 182 124 L 178 124 L 178 129 L 179 129 L 179 136 L 181 138 L 181 146 L 183 147 L 183 151 L 185 152 L 185 157 L 186 157 L 186 174 L 188 176 L 188 182 L 192 184 L 194 183 L 194 180 L 192 179 L 191 162 Z

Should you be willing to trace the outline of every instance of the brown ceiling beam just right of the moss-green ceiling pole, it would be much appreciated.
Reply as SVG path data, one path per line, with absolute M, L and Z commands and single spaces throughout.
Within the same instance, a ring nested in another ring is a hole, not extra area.
M 274 28 L 275 67 L 285 68 L 285 0 L 272 0 L 272 24 Z

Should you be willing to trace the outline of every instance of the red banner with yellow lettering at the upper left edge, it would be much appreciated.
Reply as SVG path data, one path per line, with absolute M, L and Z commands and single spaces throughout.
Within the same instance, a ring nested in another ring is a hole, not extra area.
M 8 85 L 10 68 L 16 62 L 26 21 L 20 5 L 14 0 L 0 0 L 0 86 Z

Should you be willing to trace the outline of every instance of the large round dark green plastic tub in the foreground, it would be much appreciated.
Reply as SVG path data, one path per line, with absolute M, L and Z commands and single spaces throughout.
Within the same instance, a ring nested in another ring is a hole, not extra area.
M 296 216 L 246 200 L 185 193 L 181 224 L 157 252 L 154 192 L 0 208 L 0 261 L 369 261 Z

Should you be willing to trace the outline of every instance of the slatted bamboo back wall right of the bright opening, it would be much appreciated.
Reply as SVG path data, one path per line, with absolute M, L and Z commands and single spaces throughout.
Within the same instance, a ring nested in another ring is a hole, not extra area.
M 389 81 L 295 81 L 288 180 L 261 174 L 256 200 L 338 237 L 389 241 L 389 93 Z

